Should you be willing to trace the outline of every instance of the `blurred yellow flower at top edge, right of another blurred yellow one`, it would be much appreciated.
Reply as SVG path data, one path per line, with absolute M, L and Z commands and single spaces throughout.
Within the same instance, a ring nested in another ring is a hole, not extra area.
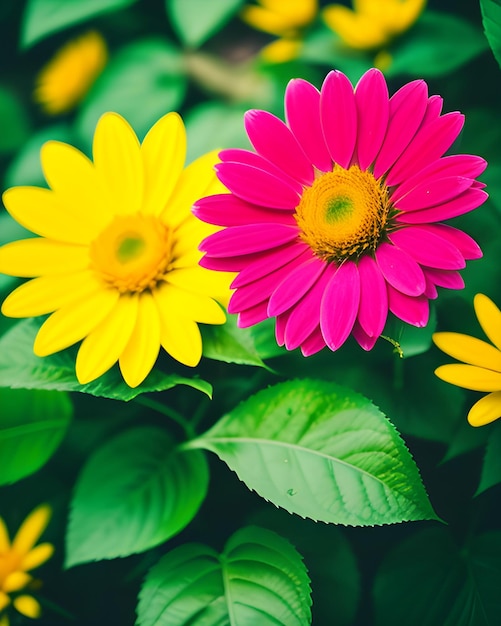
M 426 0 L 353 0 L 353 10 L 332 4 L 322 17 L 350 48 L 372 50 L 408 30 L 425 4 Z

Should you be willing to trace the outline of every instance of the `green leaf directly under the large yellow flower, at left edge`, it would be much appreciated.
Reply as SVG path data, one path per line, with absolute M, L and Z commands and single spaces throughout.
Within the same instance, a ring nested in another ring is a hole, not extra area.
M 176 385 L 188 385 L 209 397 L 212 394 L 212 387 L 205 380 L 164 374 L 159 370 L 153 370 L 141 386 L 133 389 L 123 381 L 117 367 L 97 380 L 81 385 L 75 376 L 72 350 L 46 357 L 38 357 L 33 353 L 38 329 L 39 324 L 35 320 L 23 320 L 0 338 L 0 387 L 80 391 L 125 401 L 141 393 L 165 391 Z

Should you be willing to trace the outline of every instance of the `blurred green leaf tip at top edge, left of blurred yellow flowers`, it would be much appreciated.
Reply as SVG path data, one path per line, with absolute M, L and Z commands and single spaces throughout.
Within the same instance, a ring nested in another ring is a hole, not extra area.
M 165 8 L 181 41 L 198 47 L 235 15 L 243 1 L 165 0 Z

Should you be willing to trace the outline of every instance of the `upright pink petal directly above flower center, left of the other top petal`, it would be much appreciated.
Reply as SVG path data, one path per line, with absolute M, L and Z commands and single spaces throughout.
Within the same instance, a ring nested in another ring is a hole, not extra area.
M 357 107 L 353 86 L 342 72 L 329 72 L 324 81 L 320 117 L 332 160 L 347 169 L 357 138 Z

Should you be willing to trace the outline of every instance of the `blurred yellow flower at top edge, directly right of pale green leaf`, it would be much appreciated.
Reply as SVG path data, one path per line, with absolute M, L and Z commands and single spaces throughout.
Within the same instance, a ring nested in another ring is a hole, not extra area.
M 279 37 L 265 46 L 261 55 L 271 63 L 295 58 L 301 48 L 301 35 L 315 19 L 318 0 L 258 0 L 241 12 L 242 19 L 253 28 Z

